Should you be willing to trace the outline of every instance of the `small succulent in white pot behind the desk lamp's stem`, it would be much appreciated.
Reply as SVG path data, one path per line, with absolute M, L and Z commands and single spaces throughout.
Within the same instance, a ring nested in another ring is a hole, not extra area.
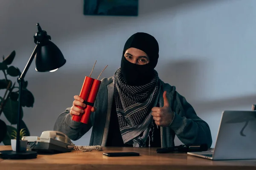
M 26 134 L 25 128 L 21 129 L 20 130 L 20 151 L 25 151 L 26 147 L 27 147 L 27 144 L 28 144 L 27 140 L 22 140 L 22 137 L 25 134 Z M 14 139 L 11 139 L 12 150 L 16 151 L 16 142 L 17 142 L 17 139 L 16 139 L 17 138 L 17 132 L 16 132 L 16 130 L 12 131 L 11 136 L 14 138 Z

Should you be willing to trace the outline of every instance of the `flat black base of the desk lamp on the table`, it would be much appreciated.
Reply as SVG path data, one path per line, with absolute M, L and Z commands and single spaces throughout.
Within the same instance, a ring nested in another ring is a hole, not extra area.
M 16 152 L 13 150 L 1 150 L 0 158 L 2 159 L 35 159 L 37 157 L 35 151 L 22 151 Z

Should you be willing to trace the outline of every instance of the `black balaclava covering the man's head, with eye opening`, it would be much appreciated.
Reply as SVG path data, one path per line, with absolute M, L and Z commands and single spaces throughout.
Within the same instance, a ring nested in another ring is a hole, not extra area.
M 149 63 L 137 65 L 125 59 L 128 48 L 137 48 L 144 51 L 149 57 Z M 128 85 L 145 85 L 154 76 L 154 68 L 158 61 L 159 46 L 157 40 L 150 34 L 138 32 L 133 34 L 126 42 L 121 60 L 121 74 Z

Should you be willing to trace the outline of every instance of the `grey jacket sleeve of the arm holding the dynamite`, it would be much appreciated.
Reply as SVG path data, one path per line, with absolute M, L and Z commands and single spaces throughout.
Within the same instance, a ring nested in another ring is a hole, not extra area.
M 61 113 L 54 125 L 53 130 L 66 134 L 71 140 L 80 139 L 85 133 L 87 133 L 92 127 L 92 120 L 88 124 L 76 122 L 71 119 L 70 108 Z

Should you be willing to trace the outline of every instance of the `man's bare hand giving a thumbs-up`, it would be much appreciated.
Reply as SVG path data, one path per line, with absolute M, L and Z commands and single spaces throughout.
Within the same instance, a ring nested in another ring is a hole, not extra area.
M 172 112 L 169 101 L 166 97 L 166 91 L 163 92 L 163 107 L 152 108 L 153 119 L 157 126 L 167 127 L 171 124 L 174 113 Z

